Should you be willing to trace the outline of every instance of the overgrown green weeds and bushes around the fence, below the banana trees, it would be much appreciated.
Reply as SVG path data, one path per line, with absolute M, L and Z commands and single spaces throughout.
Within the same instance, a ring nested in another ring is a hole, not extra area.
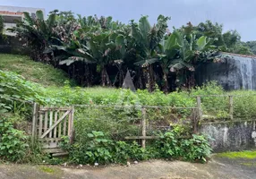
M 147 109 L 147 118 L 151 127 L 147 135 L 157 135 L 160 138 L 148 142 L 146 149 L 141 149 L 137 141 L 124 141 L 124 137 L 141 134 L 141 105 L 195 107 L 194 96 L 217 94 L 227 93 L 214 82 L 191 91 L 170 94 L 165 94 L 160 90 L 155 90 L 153 93 L 149 93 L 148 90 L 138 90 L 133 93 L 130 90 L 72 88 L 69 82 L 66 82 L 64 87 L 44 88 L 37 83 L 24 80 L 13 72 L 0 71 L 1 120 L 3 125 L 10 129 L 6 131 L 1 128 L 4 131 L 1 134 L 0 145 L 5 148 L 0 148 L 0 153 L 6 156 L 6 153 L 12 152 L 12 156 L 4 158 L 11 161 L 41 162 L 46 160 L 52 164 L 60 162 L 47 160 L 47 156 L 41 154 L 38 144 L 37 148 L 31 148 L 27 137 L 30 129 L 21 126 L 21 122 L 31 122 L 31 105 L 20 101 L 27 100 L 42 105 L 90 105 L 75 109 L 74 143 L 69 145 L 68 138 L 64 137 L 63 147 L 70 152 L 70 161 L 73 163 L 124 163 L 127 160 L 149 158 L 180 158 L 204 162 L 209 158 L 209 144 L 205 137 L 192 135 L 191 125 L 187 123 L 192 113 L 190 109 L 160 107 Z M 253 110 L 253 104 L 255 104 L 253 101 L 256 96 L 253 91 L 235 91 L 230 94 L 251 95 L 250 98 L 242 96 L 236 99 L 235 97 L 235 115 L 256 116 Z M 220 118 L 226 117 L 228 103 L 225 101 L 226 98 L 202 97 L 203 113 L 207 115 L 219 113 Z M 243 101 L 248 102 L 243 103 Z M 94 105 L 118 105 L 120 107 L 100 108 Z M 162 125 L 169 126 L 167 131 L 157 127 Z M 183 135 L 188 138 L 183 138 Z M 12 138 L 13 140 L 5 141 L 4 136 L 6 139 Z

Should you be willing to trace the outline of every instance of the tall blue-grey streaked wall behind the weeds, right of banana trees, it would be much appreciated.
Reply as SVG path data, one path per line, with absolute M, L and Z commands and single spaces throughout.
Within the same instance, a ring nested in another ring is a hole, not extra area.
M 222 53 L 221 63 L 201 64 L 196 68 L 198 85 L 218 81 L 225 90 L 256 90 L 256 56 Z

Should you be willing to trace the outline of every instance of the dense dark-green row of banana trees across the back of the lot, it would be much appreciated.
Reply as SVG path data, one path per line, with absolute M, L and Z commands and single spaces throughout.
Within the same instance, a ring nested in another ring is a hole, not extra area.
M 129 69 L 137 89 L 152 91 L 156 84 L 165 92 L 191 89 L 196 66 L 218 62 L 219 50 L 252 55 L 235 30 L 223 33 L 222 25 L 211 21 L 170 32 L 170 17 L 163 15 L 154 25 L 148 16 L 129 24 L 57 10 L 47 20 L 40 11 L 36 18 L 24 16 L 12 31 L 27 41 L 31 57 L 64 69 L 81 86 L 121 87 Z

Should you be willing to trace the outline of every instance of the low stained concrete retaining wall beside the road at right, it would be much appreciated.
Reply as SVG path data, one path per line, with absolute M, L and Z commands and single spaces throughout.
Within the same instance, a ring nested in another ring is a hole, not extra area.
M 201 124 L 201 132 L 214 141 L 210 145 L 215 152 L 240 149 L 252 149 L 255 142 L 252 139 L 253 125 L 251 121 L 214 122 Z

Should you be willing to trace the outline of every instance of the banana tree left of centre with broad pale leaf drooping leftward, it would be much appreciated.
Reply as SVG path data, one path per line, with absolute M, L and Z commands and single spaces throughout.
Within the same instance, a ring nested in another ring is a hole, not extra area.
M 113 31 L 101 30 L 87 33 L 86 38 L 86 43 L 83 44 L 74 38 L 70 47 L 58 47 L 68 54 L 68 57 L 63 59 L 60 64 L 70 65 L 77 61 L 96 64 L 97 72 L 101 74 L 102 86 L 110 86 L 107 66 L 123 59 L 125 54 L 124 36 Z

